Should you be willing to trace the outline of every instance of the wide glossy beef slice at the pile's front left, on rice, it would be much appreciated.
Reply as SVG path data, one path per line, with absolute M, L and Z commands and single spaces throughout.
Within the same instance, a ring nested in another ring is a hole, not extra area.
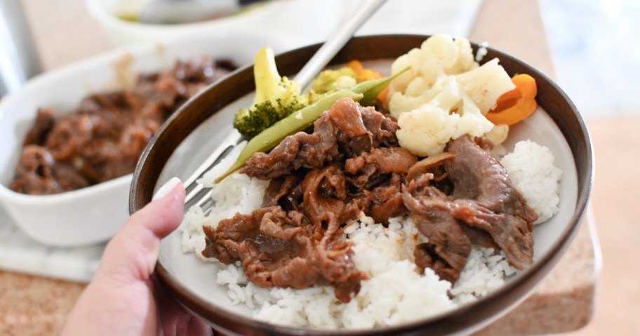
M 298 211 L 280 207 L 237 214 L 218 227 L 204 227 L 205 257 L 230 264 L 242 262 L 246 276 L 264 287 L 309 288 L 333 285 L 335 297 L 349 302 L 366 275 L 356 269 L 351 244 L 342 240 L 340 223 L 326 213 L 312 225 Z

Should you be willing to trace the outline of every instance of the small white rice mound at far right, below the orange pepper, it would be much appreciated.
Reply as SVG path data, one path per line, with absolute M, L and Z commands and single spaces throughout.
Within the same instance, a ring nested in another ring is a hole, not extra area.
M 550 149 L 531 140 L 517 142 L 514 151 L 500 160 L 514 187 L 538 214 L 535 224 L 546 222 L 560 210 L 562 170 L 553 161 Z

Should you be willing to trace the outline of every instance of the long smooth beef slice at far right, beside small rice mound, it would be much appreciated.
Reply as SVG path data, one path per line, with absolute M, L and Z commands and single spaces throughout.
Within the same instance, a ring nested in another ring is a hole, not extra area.
M 453 140 L 445 163 L 454 184 L 453 215 L 491 234 L 517 269 L 533 263 L 533 222 L 538 218 L 509 181 L 507 170 L 467 135 Z

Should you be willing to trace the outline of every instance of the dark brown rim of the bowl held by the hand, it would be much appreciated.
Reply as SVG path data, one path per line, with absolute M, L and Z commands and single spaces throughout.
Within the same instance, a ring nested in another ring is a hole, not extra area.
M 359 36 L 349 41 L 349 43 L 347 43 L 347 46 L 345 46 L 342 51 L 346 51 L 349 48 L 356 48 L 358 46 L 385 45 L 385 43 L 382 43 L 385 41 L 403 41 L 404 44 L 415 43 L 414 46 L 418 47 L 420 46 L 420 43 L 422 43 L 422 41 L 424 41 L 428 37 L 429 36 L 427 35 L 412 34 Z M 312 55 L 312 53 L 314 53 L 314 51 L 316 51 L 317 48 L 319 48 L 320 45 L 321 44 L 318 43 L 311 46 L 298 48 L 293 51 L 288 51 L 287 53 L 282 53 L 277 56 L 276 60 L 291 58 L 293 55 L 298 54 L 310 56 Z M 475 54 L 477 49 L 479 48 L 479 45 L 477 43 L 472 43 L 472 47 Z M 567 116 L 560 116 L 559 114 L 552 115 L 549 113 L 549 116 L 554 119 L 554 122 L 556 124 L 559 124 L 559 122 L 567 122 L 566 120 L 562 120 L 565 118 L 571 117 L 575 119 L 569 122 L 577 123 L 576 126 L 578 126 L 579 133 L 575 135 L 575 141 L 571 141 L 570 139 L 572 137 L 570 136 L 570 134 L 568 134 L 569 130 L 567 128 L 559 127 L 571 147 L 574 163 L 578 173 L 578 200 L 575 205 L 575 211 L 573 213 L 573 216 L 571 217 L 570 224 L 561 233 L 560 238 L 553 243 L 549 250 L 547 250 L 547 253 L 540 257 L 540 260 L 537 260 L 532 265 L 532 267 L 523 271 L 512 281 L 505 283 L 497 290 L 494 290 L 492 293 L 489 293 L 485 297 L 481 297 L 479 300 L 464 304 L 456 309 L 446 311 L 436 316 L 424 318 L 422 320 L 404 323 L 401 325 L 375 328 L 374 330 L 320 330 L 314 328 L 294 328 L 288 326 L 273 325 L 271 323 L 256 321 L 253 318 L 247 318 L 246 316 L 235 314 L 230 311 L 223 311 L 222 309 L 219 309 L 218 307 L 215 307 L 212 304 L 208 304 L 208 302 L 199 299 L 194 293 L 192 293 L 191 290 L 189 290 L 189 288 L 186 288 L 184 285 L 179 283 L 177 279 L 163 266 L 160 261 L 156 264 L 157 276 L 164 283 L 164 285 L 166 285 L 168 290 L 173 293 L 175 297 L 178 297 L 178 300 L 180 300 L 180 302 L 185 305 L 187 309 L 194 311 L 194 313 L 203 318 L 206 318 L 206 320 L 215 325 L 215 328 L 220 328 L 220 330 L 222 331 L 227 330 L 230 332 L 242 334 L 247 333 L 248 335 L 371 335 L 372 331 L 375 335 L 424 335 L 427 332 L 434 335 L 445 335 L 456 332 L 469 332 L 469 330 L 480 328 L 482 325 L 486 325 L 502 314 L 505 314 L 505 312 L 507 312 L 509 308 L 514 307 L 516 304 L 521 302 L 521 300 L 524 300 L 527 297 L 528 293 L 531 293 L 531 291 L 533 291 L 535 285 L 540 283 L 542 278 L 544 278 L 549 273 L 549 271 L 560 260 L 561 256 L 564 255 L 564 252 L 568 248 L 569 243 L 571 243 L 573 237 L 578 231 L 580 223 L 582 222 L 582 219 L 585 215 L 585 210 L 592 190 L 593 155 L 589 133 L 584 121 L 582 120 L 582 117 L 580 116 L 580 113 L 578 112 L 578 109 L 576 109 L 575 105 L 573 105 L 573 102 L 571 102 L 564 91 L 561 90 L 561 88 L 559 88 L 556 83 L 549 79 L 545 74 L 542 74 L 542 72 L 538 71 L 538 69 L 527 65 L 525 62 L 522 62 L 521 60 L 518 60 L 513 56 L 507 55 L 506 53 L 502 53 L 501 51 L 495 50 L 494 48 L 490 47 L 487 47 L 487 52 L 488 53 L 485 56 L 484 60 L 490 60 L 497 57 L 500 59 L 500 63 L 503 66 L 505 66 L 506 62 L 510 64 L 509 67 L 524 68 L 526 69 L 526 73 L 530 74 L 536 79 L 536 81 L 538 81 L 539 88 L 545 87 L 548 89 L 549 94 L 554 93 L 555 95 L 558 95 L 556 98 L 566 104 L 566 107 L 571 110 L 571 114 L 568 114 Z M 391 57 L 387 55 L 385 58 Z M 333 62 L 343 62 L 343 60 L 341 61 L 340 59 L 340 54 L 336 56 Z M 278 62 L 278 65 L 280 69 L 281 62 Z M 251 65 L 243 67 L 242 69 L 236 70 L 236 72 L 234 72 L 231 76 L 236 76 L 242 74 L 243 72 L 246 74 L 246 72 L 251 72 L 251 69 Z M 507 69 L 507 66 L 505 66 L 505 69 Z M 513 71 L 509 71 L 509 69 L 507 69 L 507 72 L 509 72 L 509 74 L 514 73 Z M 284 74 L 287 74 L 287 72 L 284 72 Z M 147 170 L 145 170 L 145 165 L 150 164 L 148 163 L 148 159 L 150 156 L 149 154 L 154 151 L 167 151 L 166 147 L 157 145 L 158 139 L 160 139 L 164 135 L 166 130 L 170 128 L 171 124 L 175 122 L 175 119 L 178 117 L 178 115 L 185 111 L 185 109 L 187 109 L 187 105 L 194 102 L 195 100 L 198 100 L 199 98 L 201 98 L 201 96 L 206 95 L 206 93 L 215 86 L 224 85 L 225 82 L 227 82 L 228 78 L 229 77 L 227 77 L 227 79 L 225 80 L 215 83 L 213 86 L 210 86 L 203 92 L 199 93 L 199 95 L 196 95 L 196 97 L 192 98 L 192 100 L 189 100 L 189 102 L 187 102 L 185 106 L 181 107 L 178 112 L 171 116 L 171 118 L 161 127 L 159 132 L 154 135 L 152 140 L 149 142 L 149 145 L 147 145 L 145 152 L 142 154 L 140 161 L 138 162 L 138 166 L 136 166 L 135 168 L 135 173 L 133 174 L 133 182 L 131 184 L 129 201 L 130 213 L 134 213 L 136 210 L 142 208 L 142 206 L 151 201 L 152 192 L 159 176 L 159 170 L 151 173 L 153 176 L 147 176 L 146 178 L 142 177 L 144 177 L 143 174 L 149 173 Z M 251 90 L 253 90 L 253 88 L 251 88 Z M 175 130 L 173 131 L 175 132 Z M 180 136 L 181 139 L 184 139 L 187 134 L 182 134 Z M 171 153 L 173 153 L 173 150 L 175 150 L 175 147 L 177 147 L 178 144 L 173 144 L 170 146 L 171 152 L 167 154 L 167 158 L 171 155 Z M 586 164 L 580 165 L 580 163 L 577 162 L 578 159 L 575 153 L 576 150 L 582 153 L 582 161 Z M 164 166 L 165 163 L 166 161 L 162 163 L 162 166 Z

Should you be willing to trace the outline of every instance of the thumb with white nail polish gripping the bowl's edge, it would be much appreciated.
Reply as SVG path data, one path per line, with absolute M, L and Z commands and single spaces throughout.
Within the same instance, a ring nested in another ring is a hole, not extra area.
M 160 239 L 180 225 L 184 208 L 185 187 L 174 177 L 109 241 L 95 277 L 146 281 L 158 260 Z

